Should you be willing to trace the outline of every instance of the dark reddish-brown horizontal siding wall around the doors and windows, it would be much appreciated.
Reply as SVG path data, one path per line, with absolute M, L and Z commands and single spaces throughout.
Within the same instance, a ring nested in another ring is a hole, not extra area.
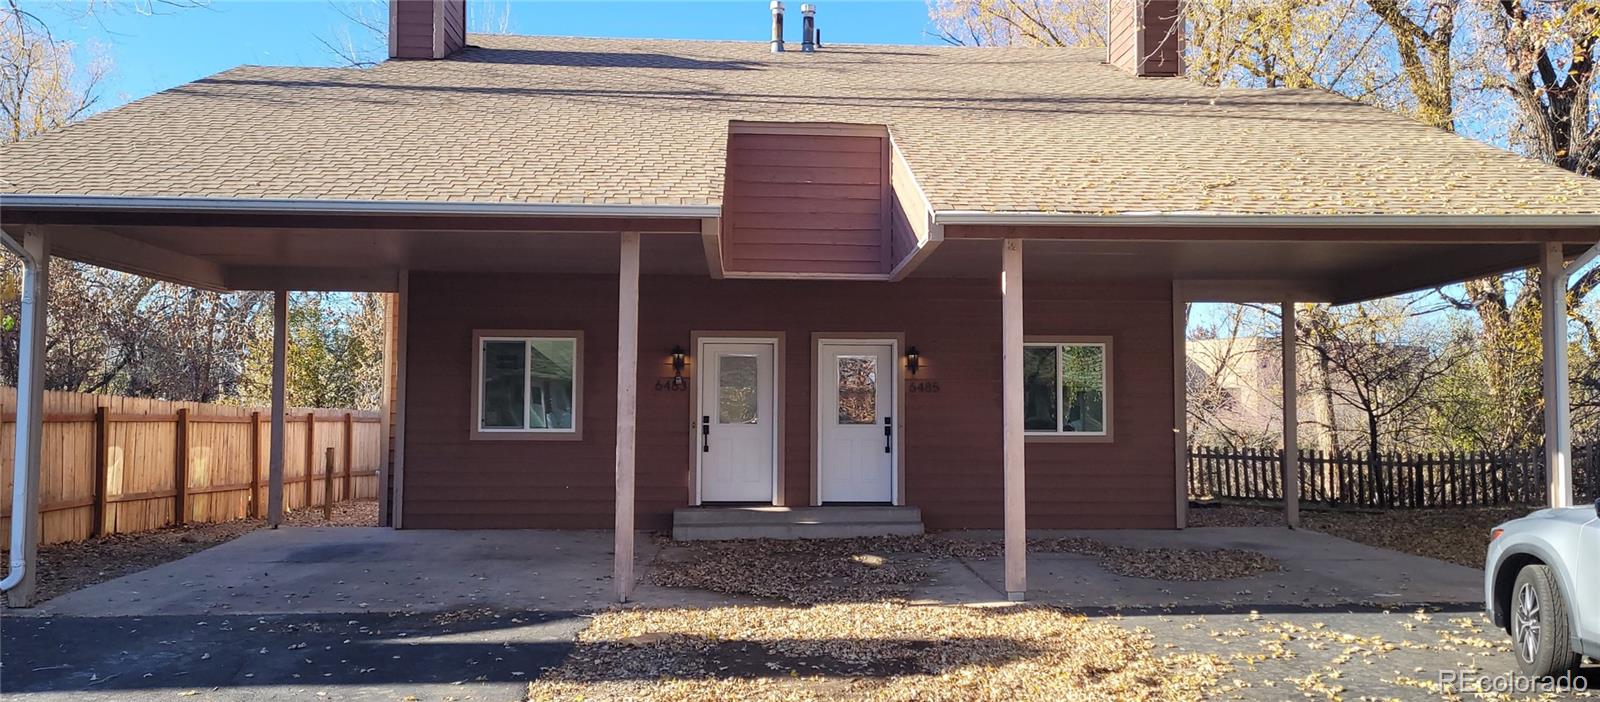
M 536 291 L 550 294 L 534 299 Z M 906 395 L 906 501 L 930 528 L 998 528 L 1000 296 L 989 280 L 902 283 L 645 277 L 640 286 L 637 518 L 666 529 L 690 502 L 690 393 L 669 352 L 693 331 L 768 329 L 784 349 L 789 504 L 811 494 L 813 333 L 904 333 L 922 352 Z M 1026 291 L 1027 334 L 1114 339 L 1115 441 L 1029 443 L 1029 526 L 1170 528 L 1174 521 L 1171 288 L 1046 286 Z M 470 441 L 474 328 L 584 331 L 581 441 Z M 614 459 L 614 277 L 411 278 L 408 528 L 610 528 Z M 693 377 L 690 358 L 686 376 Z M 904 389 L 901 389 L 904 390 Z

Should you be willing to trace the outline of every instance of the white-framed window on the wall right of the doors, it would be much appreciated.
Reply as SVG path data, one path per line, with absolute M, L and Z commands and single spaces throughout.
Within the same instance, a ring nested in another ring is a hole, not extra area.
M 1022 429 L 1038 437 L 1110 437 L 1110 341 L 1022 347 Z

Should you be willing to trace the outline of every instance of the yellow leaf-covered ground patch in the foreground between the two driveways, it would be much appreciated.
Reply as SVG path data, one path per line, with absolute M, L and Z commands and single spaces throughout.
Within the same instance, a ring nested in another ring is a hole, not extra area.
M 1202 699 L 1214 656 L 1040 606 L 904 603 L 614 609 L 533 700 Z

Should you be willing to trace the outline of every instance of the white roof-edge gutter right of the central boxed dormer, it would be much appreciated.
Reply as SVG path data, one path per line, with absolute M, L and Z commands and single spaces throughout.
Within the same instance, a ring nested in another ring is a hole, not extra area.
M 934 224 L 997 227 L 1304 227 L 1304 229 L 1494 229 L 1494 227 L 1600 227 L 1600 214 L 1240 214 L 1205 211 L 990 213 L 941 209 Z

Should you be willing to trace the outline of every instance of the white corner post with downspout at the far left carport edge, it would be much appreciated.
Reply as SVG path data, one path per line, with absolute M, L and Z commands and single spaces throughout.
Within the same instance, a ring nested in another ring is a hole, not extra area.
M 40 441 L 45 433 L 45 334 L 50 309 L 50 240 L 24 232 L 22 251 L 32 270 L 22 281 L 22 318 L 16 365 L 16 438 L 11 462 L 13 488 L 21 496 L 11 505 L 11 564 L 6 574 L 6 603 L 26 608 L 38 587 L 38 481 Z M 18 502 L 22 509 L 18 510 Z M 21 553 L 16 550 L 21 548 Z

